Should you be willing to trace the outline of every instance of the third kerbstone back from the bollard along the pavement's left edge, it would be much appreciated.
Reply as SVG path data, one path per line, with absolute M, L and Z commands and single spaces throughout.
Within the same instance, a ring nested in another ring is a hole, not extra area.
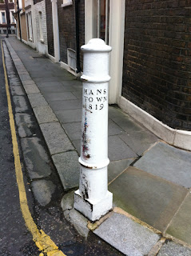
M 30 94 L 30 95 L 34 95 L 34 94 Z M 34 114 L 39 124 L 58 121 L 58 119 L 56 118 L 50 106 L 36 106 L 34 107 Z

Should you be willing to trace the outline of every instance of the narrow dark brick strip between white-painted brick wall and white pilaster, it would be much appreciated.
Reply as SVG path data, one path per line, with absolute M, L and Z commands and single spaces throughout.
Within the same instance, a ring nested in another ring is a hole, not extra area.
M 48 52 L 54 56 L 54 35 L 53 35 L 53 18 L 52 18 L 52 2 L 46 1 L 46 24 L 47 24 L 47 41 Z

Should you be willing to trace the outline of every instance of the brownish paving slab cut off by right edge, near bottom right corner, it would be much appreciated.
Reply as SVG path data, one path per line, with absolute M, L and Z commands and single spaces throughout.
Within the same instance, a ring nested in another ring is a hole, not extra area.
M 170 223 L 167 234 L 191 245 L 191 194 L 185 198 L 181 208 Z M 191 254 L 190 254 L 191 255 Z

